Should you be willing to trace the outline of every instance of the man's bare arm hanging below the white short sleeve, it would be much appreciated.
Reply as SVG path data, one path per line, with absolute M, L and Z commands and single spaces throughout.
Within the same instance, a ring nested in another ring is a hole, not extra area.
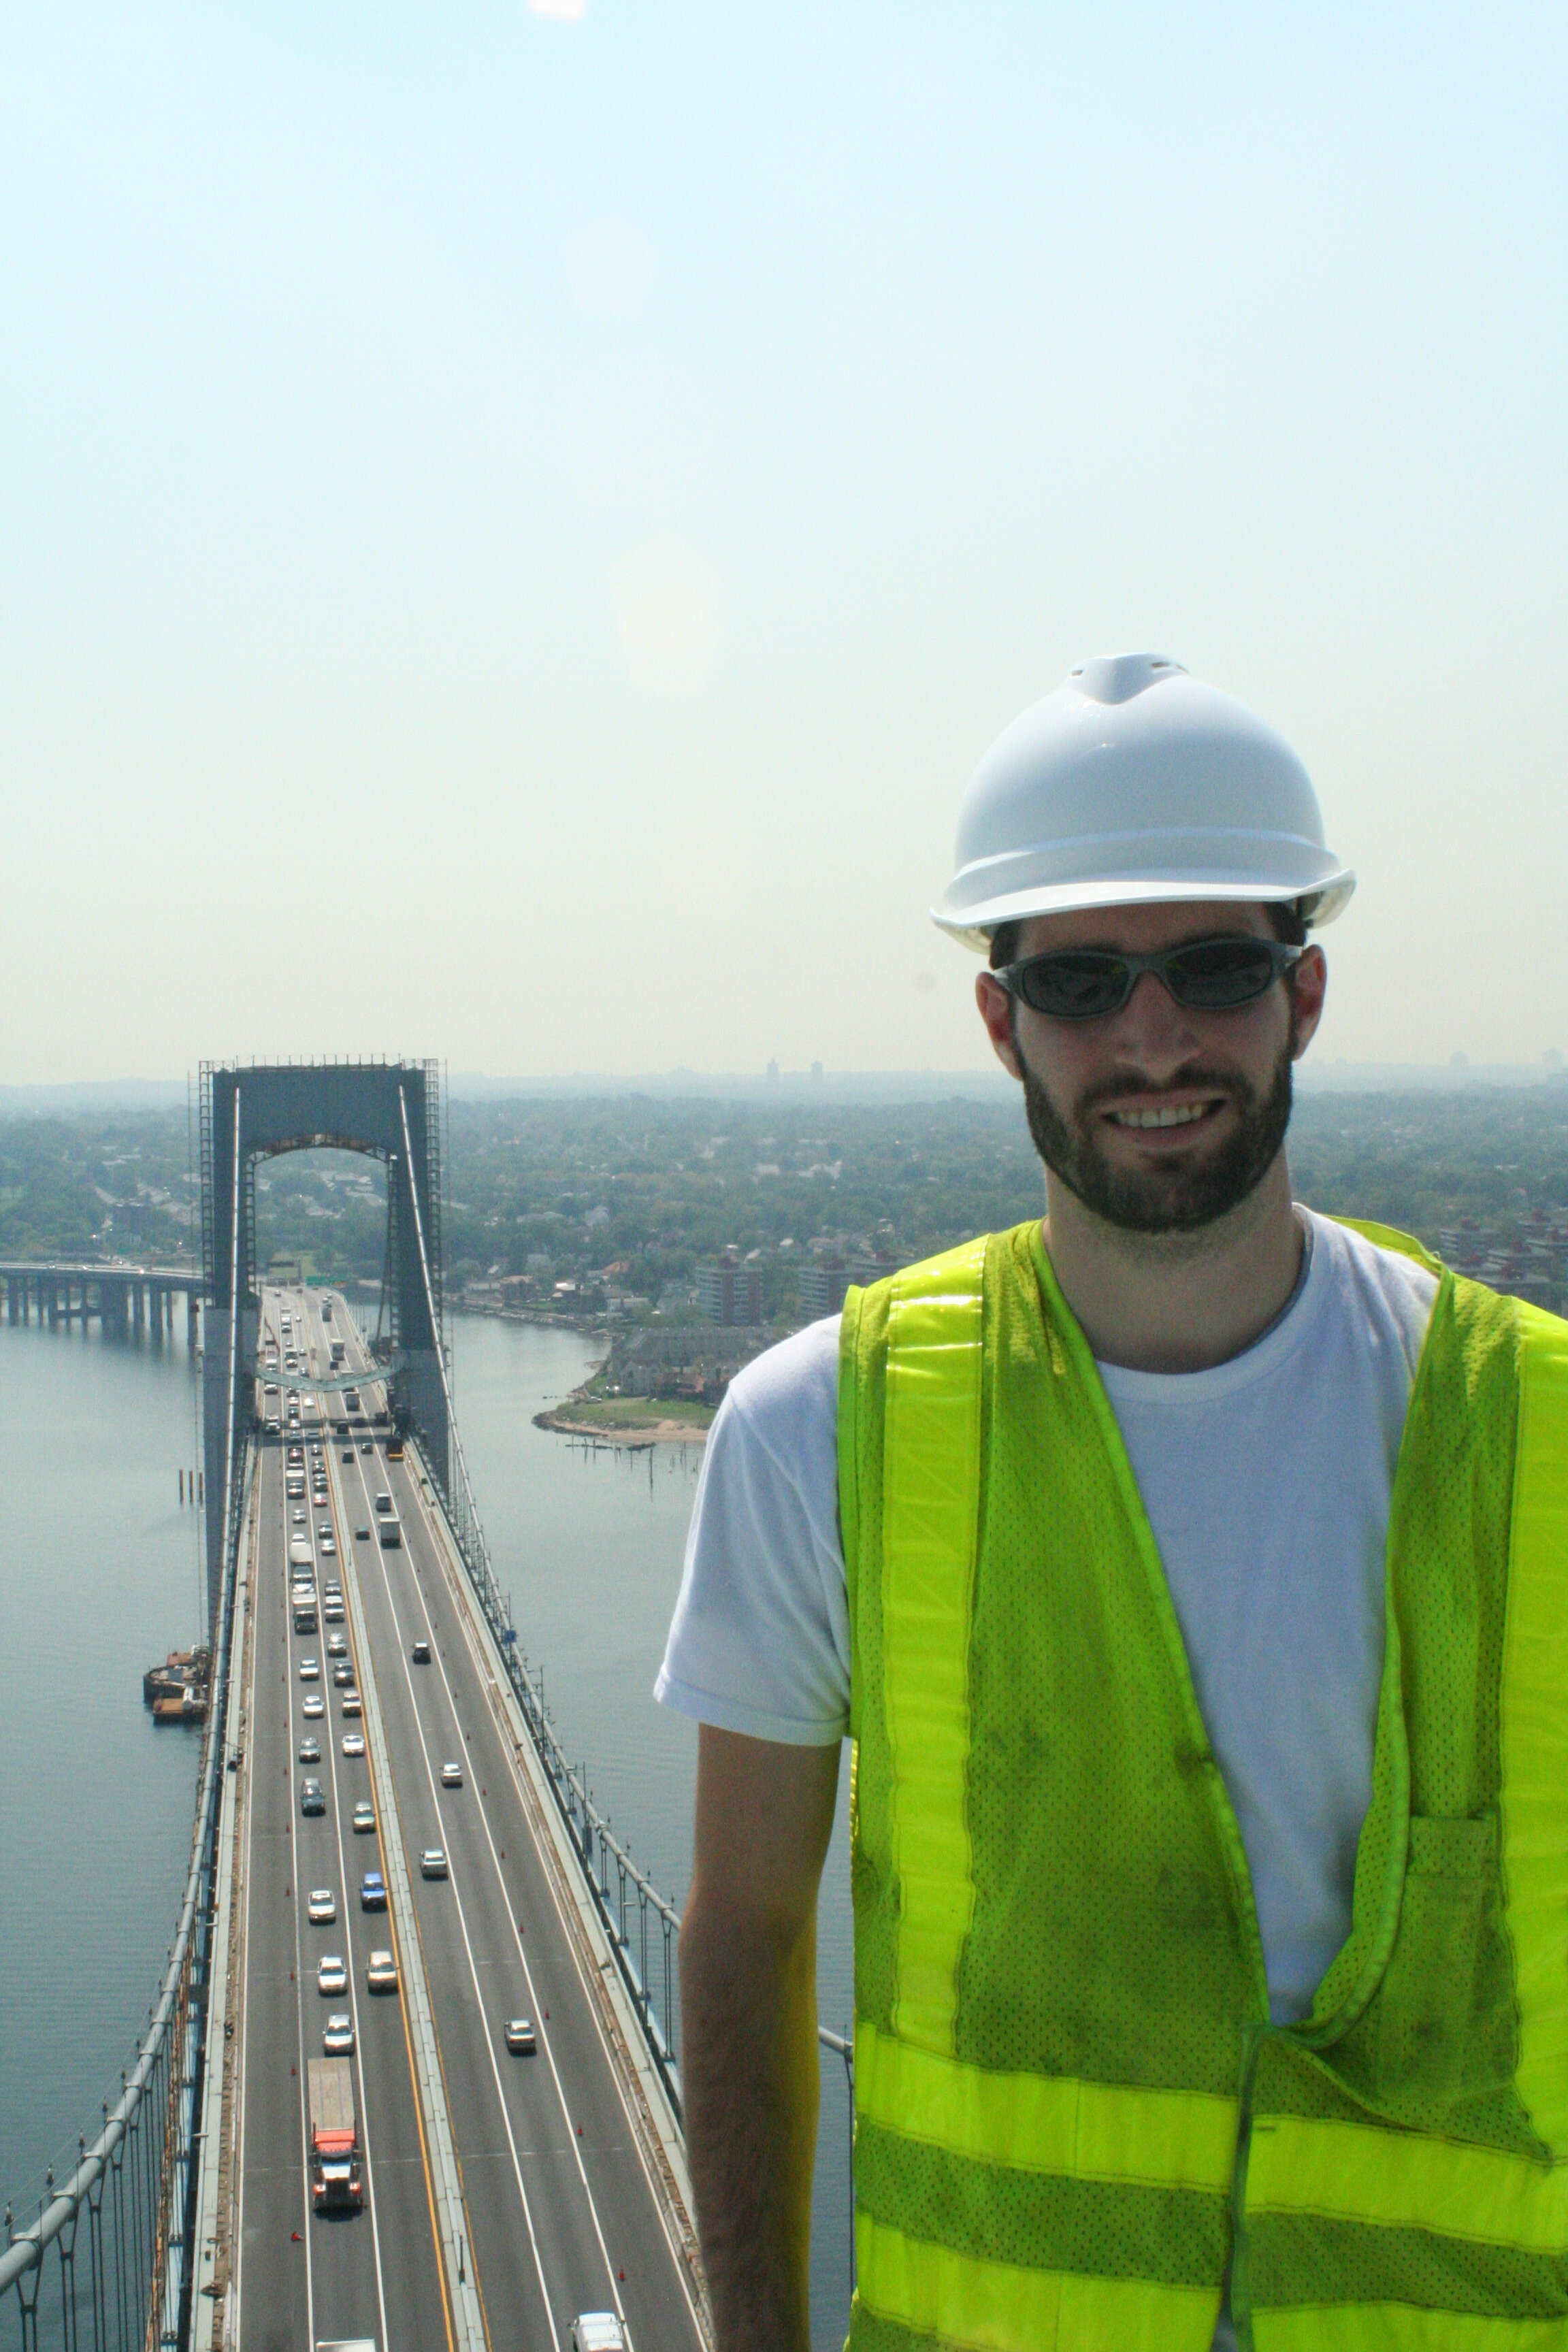
M 811 2352 L 816 1891 L 839 1748 L 701 1726 L 682 2091 L 719 2352 Z

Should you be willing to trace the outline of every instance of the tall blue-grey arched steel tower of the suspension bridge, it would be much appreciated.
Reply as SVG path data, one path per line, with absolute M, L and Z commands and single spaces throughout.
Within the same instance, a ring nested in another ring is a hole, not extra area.
M 244 1397 L 254 1397 L 261 1291 L 256 1164 L 280 1152 L 369 1152 L 386 1164 L 393 1310 L 393 1399 L 449 1486 L 442 1388 L 442 1087 L 435 1061 L 202 1063 L 202 1454 L 207 1468 L 207 1602 L 223 1569 L 230 1317 L 240 1315 Z M 237 1197 L 235 1197 L 237 1195 Z M 237 1209 L 237 1214 L 235 1214 Z M 244 1444 L 249 1414 L 233 1444 Z M 237 1468 L 237 1465 L 235 1465 Z M 233 1482 L 240 1494 L 240 1479 Z M 235 1505 L 237 1508 L 237 1505 Z

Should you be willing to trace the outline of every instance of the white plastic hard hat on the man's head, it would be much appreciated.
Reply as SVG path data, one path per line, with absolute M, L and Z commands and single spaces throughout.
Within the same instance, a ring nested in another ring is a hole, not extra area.
M 1079 663 L 997 736 L 957 868 L 931 913 L 980 953 L 1004 922 L 1084 906 L 1286 901 L 1324 924 L 1356 887 L 1284 736 L 1159 654 Z

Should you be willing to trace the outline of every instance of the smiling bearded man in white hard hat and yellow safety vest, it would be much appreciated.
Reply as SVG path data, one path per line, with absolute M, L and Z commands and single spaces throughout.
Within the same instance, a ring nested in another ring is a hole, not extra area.
M 980 764 L 1044 1225 L 733 1383 L 661 1696 L 722 2352 L 804 2352 L 856 1748 L 856 2352 L 1568 2345 L 1568 1327 L 1291 1200 L 1293 753 L 1084 663 Z

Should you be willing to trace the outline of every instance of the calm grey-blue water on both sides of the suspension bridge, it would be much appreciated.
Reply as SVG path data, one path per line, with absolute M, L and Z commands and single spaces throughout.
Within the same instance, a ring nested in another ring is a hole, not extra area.
M 651 1686 L 701 1454 L 585 1449 L 534 1428 L 595 1350 L 569 1331 L 456 1317 L 454 1385 L 501 1585 L 564 1748 L 623 1844 L 677 1903 L 691 1870 L 696 1731 Z M 190 1849 L 197 1740 L 153 1731 L 141 1672 L 197 1623 L 197 1458 L 183 1338 L 0 1324 L 0 2192 L 75 2152 L 136 2039 Z M 823 2023 L 849 2023 L 849 1870 L 823 1893 Z M 844 2340 L 849 2122 L 823 2070 L 813 2336 Z

